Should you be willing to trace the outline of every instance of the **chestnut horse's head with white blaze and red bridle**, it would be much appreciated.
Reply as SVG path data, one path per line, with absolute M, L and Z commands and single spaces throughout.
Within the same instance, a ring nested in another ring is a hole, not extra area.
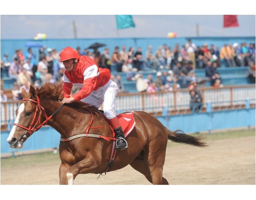
M 35 101 L 37 97 L 36 93 L 37 91 L 33 86 L 30 86 L 29 93 L 27 93 L 24 88 L 21 92 L 23 98 L 32 99 Z M 39 117 L 35 116 L 36 108 L 37 104 L 32 101 L 22 101 L 20 106 L 17 108 L 17 110 L 15 111 L 15 122 L 7 138 L 7 142 L 10 144 L 10 147 L 16 149 L 20 149 L 23 147 L 23 143 L 31 135 L 28 134 L 28 130 L 26 128 L 32 125 L 33 121 L 37 121 Z

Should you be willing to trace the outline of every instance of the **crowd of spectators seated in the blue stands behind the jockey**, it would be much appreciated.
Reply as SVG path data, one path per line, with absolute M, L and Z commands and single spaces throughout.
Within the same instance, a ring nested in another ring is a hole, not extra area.
M 99 67 L 111 70 L 116 67 L 117 72 L 126 72 L 126 80 L 136 81 L 138 92 L 170 91 L 176 88 L 187 87 L 187 83 L 204 83 L 210 81 L 214 87 L 221 87 L 222 81 L 217 68 L 221 65 L 221 60 L 225 60 L 227 65 L 249 66 L 248 77 L 255 83 L 255 44 L 238 43 L 225 44 L 221 49 L 218 46 L 205 43 L 197 46 L 191 40 L 183 44 L 180 48 L 176 44 L 172 49 L 167 44 L 158 46 L 153 52 L 153 46 L 149 45 L 145 54 L 142 48 L 126 48 L 125 45 L 114 48 L 110 55 L 109 48 L 99 52 L 97 48 L 91 52 L 80 47 L 76 50 L 80 55 L 87 55 L 94 59 Z M 23 54 L 21 49 L 15 51 L 12 59 L 4 54 L 1 59 L 1 72 L 8 71 L 8 77 L 15 80 L 13 85 L 13 99 L 20 99 L 22 88 L 28 90 L 30 84 L 40 86 L 46 82 L 62 81 L 64 66 L 59 63 L 59 54 L 56 49 L 43 46 L 39 49 L 39 58 L 31 48 Z M 205 69 L 205 78 L 198 78 L 195 74 L 196 68 Z M 143 71 L 152 70 L 156 73 L 156 79 L 152 75 L 143 78 Z M 157 71 L 158 70 L 158 71 Z M 135 73 L 136 72 L 136 73 Z M 112 77 L 119 87 L 119 92 L 128 92 L 124 88 L 121 76 Z M 195 96 L 199 95 L 195 92 Z M 194 96 L 194 92 L 191 92 Z M 201 95 L 199 95 L 201 96 Z M 2 98 L 2 91 L 1 91 Z

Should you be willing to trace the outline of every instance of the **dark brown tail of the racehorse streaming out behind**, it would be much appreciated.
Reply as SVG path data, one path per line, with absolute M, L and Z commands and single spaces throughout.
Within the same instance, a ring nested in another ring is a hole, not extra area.
M 185 144 L 190 144 L 198 147 L 205 147 L 208 146 L 205 142 L 202 142 L 201 140 L 204 139 L 202 136 L 199 137 L 194 137 L 192 135 L 187 135 L 181 130 L 176 130 L 174 132 L 168 130 L 166 128 L 166 133 L 168 135 L 168 139 L 173 141 L 173 142 L 178 142 L 178 143 L 185 143 Z

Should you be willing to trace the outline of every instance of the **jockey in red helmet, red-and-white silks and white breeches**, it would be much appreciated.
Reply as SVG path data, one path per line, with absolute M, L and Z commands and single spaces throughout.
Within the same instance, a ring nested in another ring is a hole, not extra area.
M 109 69 L 99 68 L 93 59 L 88 56 L 79 56 L 78 52 L 71 47 L 62 50 L 59 62 L 63 62 L 65 66 L 62 103 L 82 101 L 99 108 L 104 102 L 104 115 L 116 135 L 116 149 L 126 149 L 128 145 L 124 132 L 114 111 L 118 87 L 114 81 L 110 80 Z M 80 91 L 70 96 L 73 85 L 78 86 Z

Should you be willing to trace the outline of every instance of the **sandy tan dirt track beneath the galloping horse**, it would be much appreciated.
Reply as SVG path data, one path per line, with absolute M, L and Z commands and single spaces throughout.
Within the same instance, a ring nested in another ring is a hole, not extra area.
M 216 140 L 210 147 L 167 148 L 163 176 L 169 184 L 255 184 L 255 137 Z M 1 184 L 59 184 L 60 160 L 41 166 L 1 168 Z M 127 166 L 107 173 L 80 174 L 75 184 L 150 184 Z

